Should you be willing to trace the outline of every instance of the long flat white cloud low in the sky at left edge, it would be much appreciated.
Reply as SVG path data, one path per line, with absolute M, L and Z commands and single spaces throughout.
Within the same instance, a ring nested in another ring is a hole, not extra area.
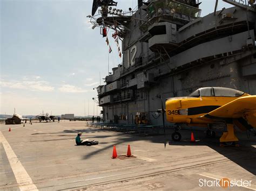
M 28 79 L 23 77 L 23 79 Z M 49 82 L 46 81 L 0 81 L 2 87 L 12 88 L 12 89 L 28 89 L 31 91 L 53 91 L 54 87 L 49 85 Z

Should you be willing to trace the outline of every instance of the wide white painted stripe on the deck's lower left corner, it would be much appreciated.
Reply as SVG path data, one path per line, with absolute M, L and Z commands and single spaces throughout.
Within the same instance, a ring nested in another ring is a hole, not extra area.
M 10 162 L 12 172 L 14 172 L 16 181 L 18 183 L 20 190 L 38 190 L 36 185 L 33 184 L 32 179 L 29 174 L 26 172 L 25 168 L 17 158 L 16 154 L 12 150 L 10 144 L 4 138 L 3 133 L 0 132 L 0 143 L 3 144 L 5 153 Z

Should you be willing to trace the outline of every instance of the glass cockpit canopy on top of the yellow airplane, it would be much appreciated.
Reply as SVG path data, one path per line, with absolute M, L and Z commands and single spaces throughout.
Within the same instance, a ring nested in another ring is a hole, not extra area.
M 189 96 L 200 97 L 200 96 L 211 96 L 211 97 L 238 97 L 243 95 L 244 92 L 237 89 L 223 88 L 223 87 L 206 87 L 199 88 Z

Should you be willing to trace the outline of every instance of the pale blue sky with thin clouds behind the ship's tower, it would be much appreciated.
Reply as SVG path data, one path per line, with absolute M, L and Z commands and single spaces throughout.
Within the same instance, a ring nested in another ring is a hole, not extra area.
M 202 2 L 201 15 L 213 12 L 214 0 Z M 0 0 L 0 114 L 100 112 L 93 88 L 107 74 L 109 53 L 99 28 L 87 23 L 91 6 L 92 0 Z M 135 6 L 137 0 L 118 1 L 118 9 Z M 219 2 L 223 7 L 230 5 Z M 110 68 L 122 62 L 111 44 Z

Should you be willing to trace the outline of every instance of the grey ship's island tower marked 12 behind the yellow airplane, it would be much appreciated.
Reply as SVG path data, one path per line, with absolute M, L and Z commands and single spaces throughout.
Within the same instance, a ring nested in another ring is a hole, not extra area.
M 97 87 L 104 121 L 160 125 L 161 100 L 200 87 L 256 94 L 255 1 L 223 1 L 233 7 L 216 11 L 216 1 L 204 17 L 196 0 L 138 0 L 138 10 L 126 13 L 98 1 L 105 4 L 92 24 L 115 30 L 123 53 Z

